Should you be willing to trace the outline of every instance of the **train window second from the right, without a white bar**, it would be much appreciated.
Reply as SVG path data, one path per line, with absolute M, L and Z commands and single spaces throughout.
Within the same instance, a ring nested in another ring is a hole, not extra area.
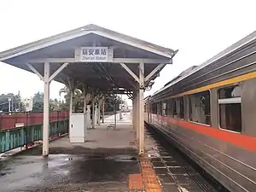
M 189 120 L 211 125 L 209 90 L 189 95 Z

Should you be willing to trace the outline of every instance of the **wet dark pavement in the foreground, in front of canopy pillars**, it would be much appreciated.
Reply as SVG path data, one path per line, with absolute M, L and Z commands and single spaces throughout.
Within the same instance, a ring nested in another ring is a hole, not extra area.
M 0 191 L 129 191 L 136 155 L 20 155 L 0 161 Z

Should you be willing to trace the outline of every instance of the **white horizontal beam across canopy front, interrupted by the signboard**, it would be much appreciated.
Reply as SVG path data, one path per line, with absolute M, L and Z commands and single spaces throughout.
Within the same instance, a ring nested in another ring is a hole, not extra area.
M 80 62 L 76 61 L 75 58 L 37 58 L 37 59 L 30 59 L 30 63 L 43 63 L 43 62 Z M 172 59 L 146 59 L 146 58 L 113 58 L 113 63 L 134 63 L 138 64 L 140 62 L 143 63 L 164 63 L 164 64 L 172 64 Z

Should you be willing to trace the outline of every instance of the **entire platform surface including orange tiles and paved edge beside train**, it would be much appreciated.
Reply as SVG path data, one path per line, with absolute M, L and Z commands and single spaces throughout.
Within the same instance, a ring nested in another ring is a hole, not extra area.
M 117 115 L 116 128 L 113 119 L 88 130 L 85 143 L 53 140 L 46 158 L 38 146 L 0 161 L 0 192 L 201 191 L 152 133 L 145 132 L 145 154 L 138 155 L 131 113 Z

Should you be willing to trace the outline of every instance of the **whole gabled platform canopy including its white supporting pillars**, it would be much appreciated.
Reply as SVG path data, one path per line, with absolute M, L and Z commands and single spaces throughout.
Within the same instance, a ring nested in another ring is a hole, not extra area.
M 176 53 L 177 50 L 88 25 L 3 51 L 0 61 L 36 73 L 44 81 L 44 156 L 49 154 L 49 84 L 53 79 L 67 85 L 71 115 L 74 113 L 75 89 L 84 92 L 86 115 L 89 114 L 86 98 L 91 97 L 92 127 L 95 126 L 94 101 L 97 96 L 104 93 L 128 95 L 133 102 L 132 119 L 137 130 L 139 153 L 143 154 L 143 92 L 152 86 L 152 80 L 166 64 L 172 64 Z M 85 121 L 84 117 L 82 119 Z M 69 129 L 73 129 L 73 124 Z

